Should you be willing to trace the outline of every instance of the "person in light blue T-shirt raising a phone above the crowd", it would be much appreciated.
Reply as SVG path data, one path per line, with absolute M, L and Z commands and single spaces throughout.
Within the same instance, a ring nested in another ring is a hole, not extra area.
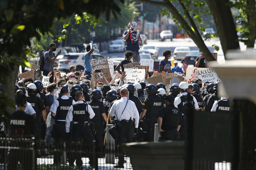
M 85 71 L 83 72 L 83 75 L 88 75 L 89 78 L 91 79 L 92 78 L 92 74 L 91 74 L 92 69 L 91 69 L 91 66 L 90 66 L 90 60 L 93 59 L 91 54 L 94 51 L 92 43 L 90 43 L 89 45 L 86 46 L 86 51 L 87 52 L 83 56 L 83 59 L 85 60 Z

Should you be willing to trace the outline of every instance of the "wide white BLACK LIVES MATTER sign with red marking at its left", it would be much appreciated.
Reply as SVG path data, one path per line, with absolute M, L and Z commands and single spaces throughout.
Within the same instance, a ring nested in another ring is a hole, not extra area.
M 202 83 L 206 81 L 215 82 L 216 80 L 220 79 L 217 73 L 212 68 L 196 68 L 196 67 L 187 68 L 187 73 L 186 73 L 187 82 L 190 82 L 191 79 L 193 78 L 201 79 Z

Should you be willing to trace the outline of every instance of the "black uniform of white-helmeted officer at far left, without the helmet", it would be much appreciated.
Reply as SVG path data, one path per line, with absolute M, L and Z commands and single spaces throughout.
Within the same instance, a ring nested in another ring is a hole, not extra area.
M 41 125 L 43 122 L 42 111 L 45 110 L 45 105 L 43 104 L 42 99 L 35 94 L 28 94 L 27 102 L 29 102 L 35 110 L 35 128 L 37 129 L 36 138 L 40 139 Z

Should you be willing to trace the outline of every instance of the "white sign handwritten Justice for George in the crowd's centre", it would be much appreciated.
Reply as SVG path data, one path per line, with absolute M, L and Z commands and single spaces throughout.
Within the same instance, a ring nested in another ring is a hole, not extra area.
M 144 81 L 145 69 L 133 69 L 133 68 L 124 68 L 126 71 L 126 77 L 124 78 L 125 82 L 137 83 L 139 81 Z

